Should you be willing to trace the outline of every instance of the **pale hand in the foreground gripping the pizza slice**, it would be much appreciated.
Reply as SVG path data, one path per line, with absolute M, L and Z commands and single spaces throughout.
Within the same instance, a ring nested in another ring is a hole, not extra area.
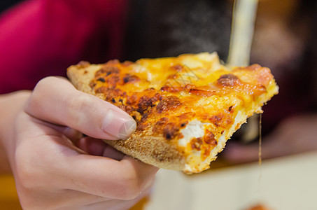
M 23 209 L 129 209 L 148 195 L 157 168 L 99 140 L 133 120 L 112 104 L 49 77 L 1 95 L 0 108 L 0 173 L 15 177 Z

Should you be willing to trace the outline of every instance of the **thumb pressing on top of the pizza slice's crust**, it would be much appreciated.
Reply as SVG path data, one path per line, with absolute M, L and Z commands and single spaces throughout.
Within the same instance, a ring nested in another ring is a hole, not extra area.
M 64 78 L 41 80 L 24 110 L 41 120 L 71 127 L 97 139 L 127 139 L 136 129 L 136 122 L 127 113 L 76 90 Z

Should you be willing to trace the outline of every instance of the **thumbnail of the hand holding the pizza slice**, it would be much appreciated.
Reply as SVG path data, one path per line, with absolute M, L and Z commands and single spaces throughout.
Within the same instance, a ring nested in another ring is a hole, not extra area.
M 102 130 L 118 139 L 127 139 L 136 130 L 136 122 L 127 114 L 109 109 L 102 122 Z

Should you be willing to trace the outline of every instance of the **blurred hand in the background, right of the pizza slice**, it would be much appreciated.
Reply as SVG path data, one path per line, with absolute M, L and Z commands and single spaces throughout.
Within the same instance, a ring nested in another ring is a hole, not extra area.
M 262 158 L 317 150 L 317 115 L 295 116 L 284 120 L 277 128 L 262 139 Z M 223 157 L 232 163 L 258 160 L 258 143 L 242 145 L 228 144 Z

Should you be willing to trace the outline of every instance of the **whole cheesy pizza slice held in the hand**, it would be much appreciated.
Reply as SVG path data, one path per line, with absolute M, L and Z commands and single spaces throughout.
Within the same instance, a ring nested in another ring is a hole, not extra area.
M 143 162 L 187 174 L 209 169 L 226 141 L 278 93 L 269 69 L 229 69 L 216 52 L 178 57 L 80 62 L 68 76 L 78 90 L 129 113 L 137 123 L 127 140 L 106 141 Z

